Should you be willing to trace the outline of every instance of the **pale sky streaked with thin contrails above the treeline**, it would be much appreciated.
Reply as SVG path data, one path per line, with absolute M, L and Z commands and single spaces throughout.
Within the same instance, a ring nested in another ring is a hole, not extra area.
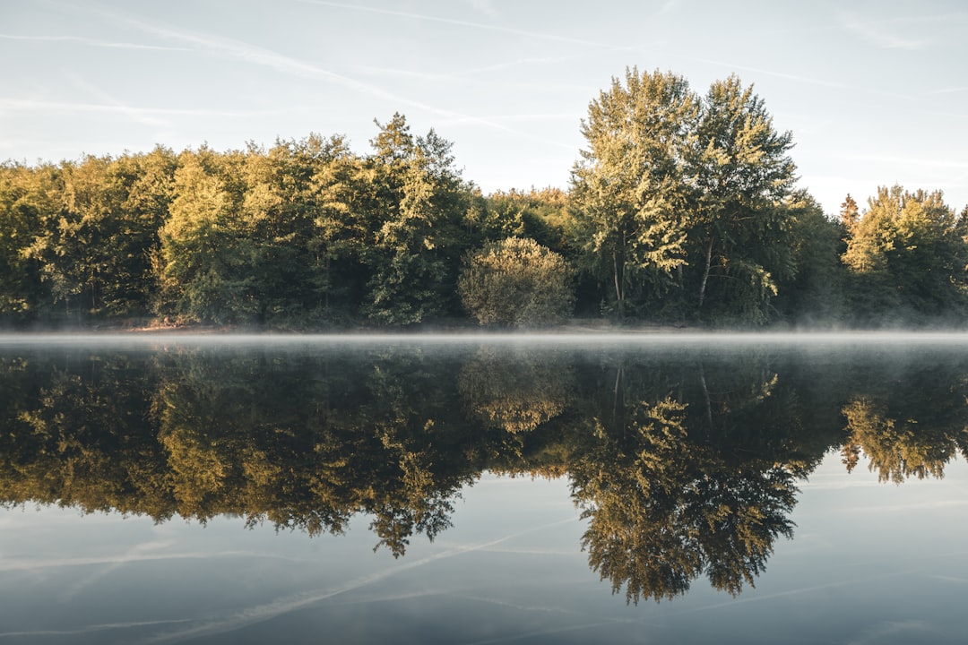
M 961 0 L 0 0 L 0 161 L 226 151 L 394 113 L 485 193 L 567 189 L 614 76 L 737 74 L 793 133 L 799 187 L 968 205 Z

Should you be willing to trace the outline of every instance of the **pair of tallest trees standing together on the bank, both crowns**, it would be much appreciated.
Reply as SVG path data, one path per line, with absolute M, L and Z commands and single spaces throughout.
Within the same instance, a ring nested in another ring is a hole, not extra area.
M 672 73 L 625 73 L 590 103 L 572 172 L 587 266 L 618 313 L 764 323 L 795 271 L 789 132 L 739 78 L 700 99 Z M 608 278 L 607 278 L 608 277 Z M 630 295 L 632 296 L 630 298 Z

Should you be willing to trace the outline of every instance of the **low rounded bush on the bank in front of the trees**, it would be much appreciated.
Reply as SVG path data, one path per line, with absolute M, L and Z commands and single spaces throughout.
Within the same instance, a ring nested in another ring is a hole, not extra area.
M 481 325 L 548 325 L 564 319 L 574 302 L 564 259 L 534 240 L 518 237 L 470 253 L 458 291 Z

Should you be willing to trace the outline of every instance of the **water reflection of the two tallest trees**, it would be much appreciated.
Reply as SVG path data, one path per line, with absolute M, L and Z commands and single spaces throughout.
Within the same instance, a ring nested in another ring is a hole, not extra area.
M 735 417 L 762 407 L 775 380 L 744 381 L 742 397 L 711 389 L 705 372 L 695 372 L 694 396 L 684 382 L 678 398 L 652 402 L 653 392 L 625 388 L 622 400 L 635 402 L 591 422 L 592 445 L 570 468 L 590 519 L 590 566 L 614 592 L 624 587 L 626 601 L 674 598 L 704 573 L 737 595 L 764 570 L 776 537 L 793 535 L 793 469 L 759 452 L 748 438 L 758 433 L 711 430 L 736 427 Z

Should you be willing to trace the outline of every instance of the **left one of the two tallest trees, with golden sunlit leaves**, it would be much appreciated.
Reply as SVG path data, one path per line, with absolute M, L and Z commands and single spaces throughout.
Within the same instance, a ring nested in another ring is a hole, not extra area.
M 611 282 L 620 317 L 630 293 L 663 290 L 685 263 L 681 180 L 697 110 L 681 76 L 632 68 L 582 121 L 588 147 L 572 170 L 572 203 L 587 264 Z

